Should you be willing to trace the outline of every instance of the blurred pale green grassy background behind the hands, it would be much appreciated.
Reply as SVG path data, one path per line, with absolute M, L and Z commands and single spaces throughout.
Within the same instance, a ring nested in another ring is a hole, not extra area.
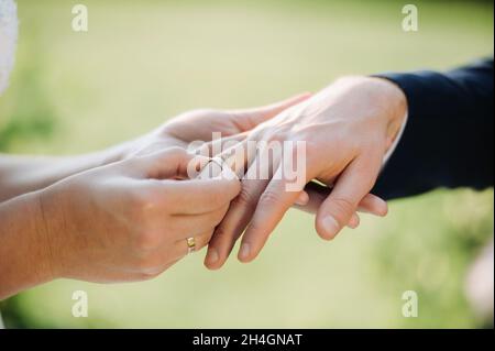
M 72 7 L 88 6 L 75 33 Z M 491 1 L 30 1 L 11 87 L 0 99 L 3 152 L 73 154 L 147 132 L 199 107 L 237 108 L 318 90 L 344 74 L 444 69 L 493 53 Z M 483 161 L 492 162 L 492 161 Z M 1 303 L 8 327 L 472 328 L 470 262 L 493 233 L 493 190 L 394 201 L 386 219 L 321 241 L 290 211 L 257 261 L 219 272 L 202 253 L 157 279 L 57 281 Z M 72 293 L 89 318 L 72 317 Z M 416 290 L 419 317 L 402 316 Z

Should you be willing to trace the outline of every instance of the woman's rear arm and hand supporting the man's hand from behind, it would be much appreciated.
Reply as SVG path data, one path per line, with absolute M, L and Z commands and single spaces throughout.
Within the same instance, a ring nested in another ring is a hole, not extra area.
M 187 147 L 194 141 L 210 142 L 212 133 L 222 141 L 239 140 L 257 124 L 307 99 L 299 95 L 261 108 L 221 111 L 212 109 L 183 113 L 136 140 L 91 154 L 66 157 L 9 156 L 0 154 L 0 202 L 45 188 L 87 169 L 145 155 L 168 147 Z

